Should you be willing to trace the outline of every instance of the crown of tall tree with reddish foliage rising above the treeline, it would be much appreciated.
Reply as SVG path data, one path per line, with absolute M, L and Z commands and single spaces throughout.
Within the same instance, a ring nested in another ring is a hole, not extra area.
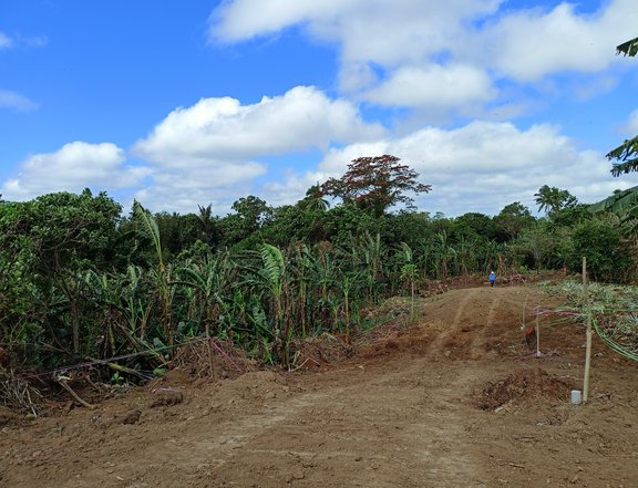
M 359 157 L 348 165 L 341 178 L 330 178 L 320 189 L 323 195 L 338 197 L 380 217 L 391 206 L 414 201 L 405 191 L 429 193 L 431 185 L 418 183 L 419 174 L 399 164 L 397 156 Z

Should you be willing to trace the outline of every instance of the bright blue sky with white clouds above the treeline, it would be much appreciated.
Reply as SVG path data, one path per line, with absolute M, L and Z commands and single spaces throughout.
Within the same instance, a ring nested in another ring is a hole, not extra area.
M 0 193 L 224 215 L 392 154 L 425 211 L 594 203 L 637 184 L 605 159 L 638 133 L 637 25 L 635 0 L 3 0 Z

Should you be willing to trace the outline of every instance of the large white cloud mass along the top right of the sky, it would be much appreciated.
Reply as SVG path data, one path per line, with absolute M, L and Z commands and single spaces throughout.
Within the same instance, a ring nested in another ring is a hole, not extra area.
M 635 0 L 601 1 L 593 12 L 576 2 L 513 8 L 505 0 L 229 0 L 213 11 L 209 35 L 241 42 L 297 27 L 339 51 L 344 93 L 381 105 L 455 110 L 492 102 L 502 83 L 603 72 L 616 61 L 614 46 L 635 37 L 637 17 Z M 423 82 L 441 96 L 419 92 Z M 614 85 L 605 77 L 574 96 Z

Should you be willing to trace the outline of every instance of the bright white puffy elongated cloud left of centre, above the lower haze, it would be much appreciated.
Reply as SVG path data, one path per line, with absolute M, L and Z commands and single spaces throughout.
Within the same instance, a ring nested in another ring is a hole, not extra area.
M 331 142 L 369 138 L 382 132 L 380 125 L 366 124 L 350 102 L 331 101 L 313 87 L 297 86 L 253 105 L 224 97 L 177 108 L 137 142 L 134 150 L 161 166 L 206 166 L 325 148 Z

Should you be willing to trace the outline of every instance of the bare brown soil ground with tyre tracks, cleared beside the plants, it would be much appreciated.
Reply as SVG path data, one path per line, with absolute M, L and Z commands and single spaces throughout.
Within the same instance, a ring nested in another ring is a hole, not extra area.
M 313 371 L 178 368 L 93 411 L 8 423 L 0 487 L 638 487 L 638 365 L 595 338 L 589 402 L 570 405 L 583 325 L 544 315 L 542 357 L 521 329 L 553 300 L 451 290 L 352 357 L 307 352 Z

